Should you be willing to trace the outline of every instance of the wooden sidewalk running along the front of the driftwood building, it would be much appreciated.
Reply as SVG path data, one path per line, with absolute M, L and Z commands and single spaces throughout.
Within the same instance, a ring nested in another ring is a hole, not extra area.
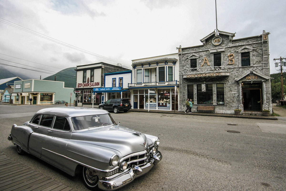
M 148 112 L 148 109 L 130 109 L 133 112 Z M 263 116 L 263 115 L 235 115 L 235 114 L 224 114 L 224 113 L 185 113 L 184 111 L 161 111 L 161 110 L 149 110 L 152 113 L 168 113 L 168 114 L 181 114 L 181 115 L 201 115 L 201 116 L 216 116 L 216 117 L 238 117 L 238 118 L 248 118 L 248 119 L 268 119 L 277 120 L 273 116 Z

